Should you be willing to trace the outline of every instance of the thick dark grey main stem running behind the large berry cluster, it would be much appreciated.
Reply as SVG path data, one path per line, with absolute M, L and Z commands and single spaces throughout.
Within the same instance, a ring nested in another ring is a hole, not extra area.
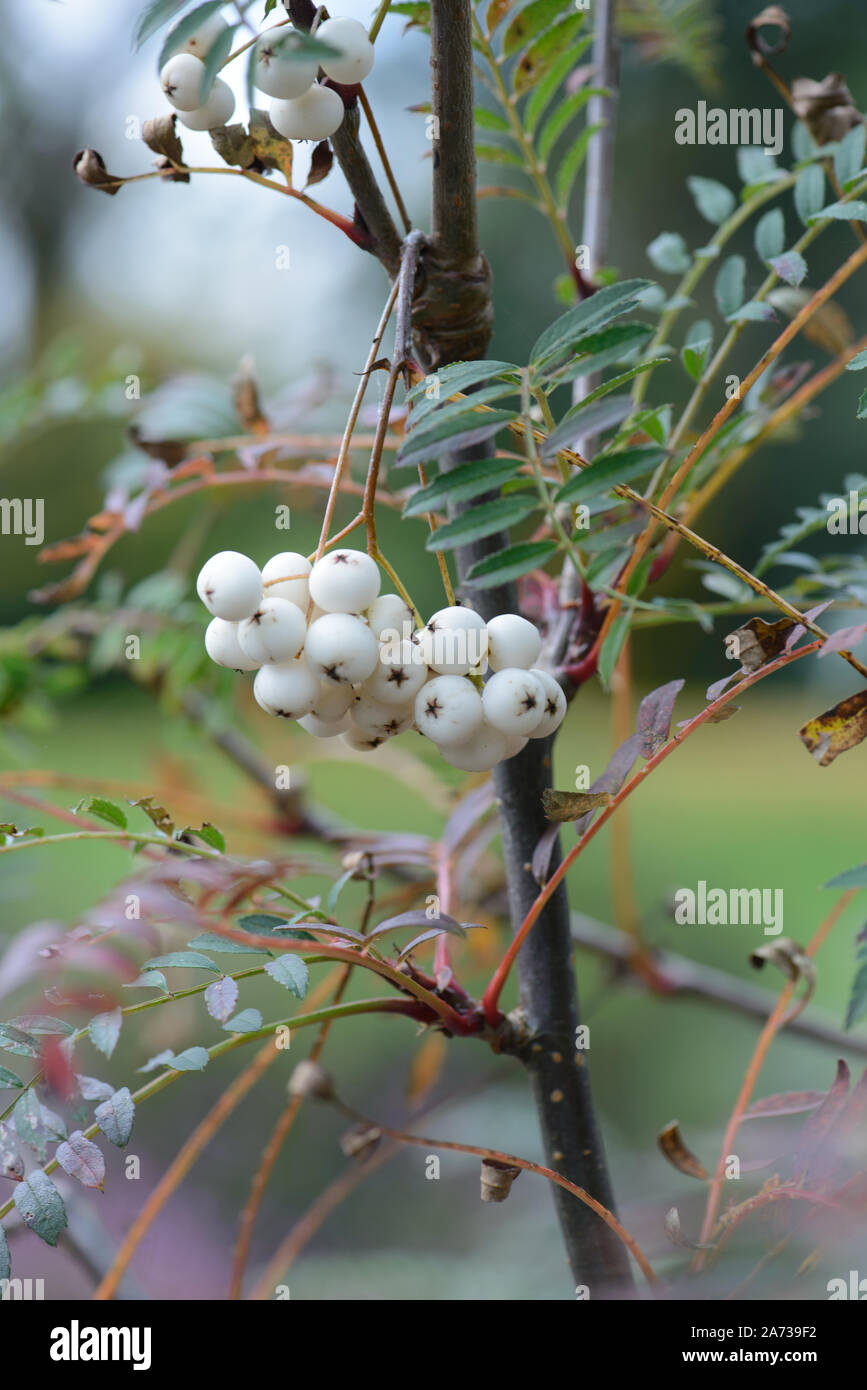
M 421 354 L 434 366 L 484 356 L 490 335 L 489 274 L 478 249 L 475 214 L 470 19 L 470 0 L 432 0 L 431 65 L 439 139 L 434 149 L 434 234 L 422 259 L 415 325 Z M 479 456 L 479 450 L 464 450 L 449 466 Z M 507 543 L 509 538 L 499 535 L 457 552 L 461 596 L 471 599 L 486 620 L 517 610 L 514 587 L 475 589 L 467 573 L 484 555 Z M 493 781 L 514 931 L 538 891 L 529 860 L 547 828 L 542 790 L 550 785 L 549 742 L 531 739 L 517 758 L 495 769 Z M 552 897 L 518 956 L 518 990 L 528 1037 L 521 1061 L 532 1083 L 546 1162 L 613 1211 L 589 1072 L 575 1047 L 579 1015 L 564 890 Z M 631 1287 L 631 1273 L 621 1243 L 561 1188 L 554 1188 L 554 1202 L 575 1284 L 589 1286 L 596 1298 L 622 1297 Z

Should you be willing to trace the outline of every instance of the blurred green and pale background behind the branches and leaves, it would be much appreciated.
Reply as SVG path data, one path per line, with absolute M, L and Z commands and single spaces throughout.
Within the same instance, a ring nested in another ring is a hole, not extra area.
M 85 145 L 96 146 L 113 171 L 147 168 L 147 152 L 126 139 L 128 118 L 146 118 L 160 104 L 153 42 L 144 54 L 129 51 L 136 8 L 135 0 L 117 0 L 110 15 L 99 0 L 71 0 L 65 6 L 32 0 L 26 10 L 4 7 L 10 42 L 0 56 L 0 145 L 7 192 L 0 222 L 0 267 L 7 286 L 0 338 L 6 373 L 0 461 L 4 495 L 46 499 L 50 541 L 78 532 L 101 506 L 106 470 L 128 449 L 124 384 L 129 374 L 140 375 L 146 395 L 164 378 L 183 373 L 210 373 L 226 382 L 239 360 L 251 354 L 278 417 L 292 423 L 302 411 L 306 430 L 335 431 L 354 391 L 352 374 L 363 364 L 383 291 L 378 265 L 338 232 L 320 229 L 300 207 L 285 207 L 258 189 L 235 186 L 233 179 L 201 178 L 192 186 L 143 183 L 122 189 L 111 200 L 75 181 L 71 156 Z M 842 70 L 861 103 L 867 47 L 852 42 L 853 25 L 863 31 L 854 7 L 838 3 L 817 8 L 793 0 L 788 8 L 793 39 L 781 63 L 784 71 L 821 78 Z M 685 190 L 688 174 L 702 172 L 735 185 L 731 149 L 695 150 L 674 143 L 674 111 L 699 99 L 731 106 L 774 104 L 742 42 L 753 10 L 739 0 L 717 7 L 718 92 L 704 90 L 670 63 L 646 61 L 634 44 L 625 50 L 610 256 L 624 275 L 653 278 L 643 247 L 660 231 L 679 231 L 691 246 L 707 238 L 707 225 Z M 343 4 L 342 13 L 368 17 L 356 0 Z M 414 32 L 400 38 L 400 29 L 396 19 L 386 24 L 368 88 L 410 210 L 424 225 L 429 175 L 424 118 L 407 107 L 425 96 L 425 40 Z M 185 143 L 188 156 L 201 154 L 207 163 L 204 136 L 186 136 Z M 349 211 L 339 175 L 317 192 L 324 202 Z M 789 202 L 785 208 L 793 232 Z M 485 202 L 481 221 L 496 285 L 490 354 L 521 360 L 559 311 L 553 281 L 561 265 L 547 228 L 529 208 Z M 572 224 L 579 227 L 579 207 Z M 848 228 L 841 227 L 818 243 L 810 263 L 813 285 L 848 252 L 846 238 Z M 290 247 L 290 270 L 278 274 L 275 249 L 283 245 Z M 734 249 L 746 250 L 749 245 L 748 235 Z M 754 261 L 750 274 L 757 275 Z M 710 285 L 706 295 L 695 317 L 710 309 Z M 857 281 L 845 303 L 852 321 L 861 325 L 864 291 Z M 767 334 L 761 325 L 746 331 L 741 360 L 732 370 L 752 364 Z M 804 352 L 795 356 L 803 357 Z M 807 356 L 817 366 L 824 361 L 817 348 L 809 348 Z M 684 374 L 677 366 L 666 373 L 654 378 L 652 399 L 682 400 Z M 761 543 L 793 517 L 796 506 L 814 502 L 821 491 L 834 492 L 846 473 L 863 467 L 863 424 L 854 420 L 857 391 L 852 381 L 843 375 L 796 438 L 764 449 L 738 474 L 704 514 L 704 535 L 750 563 Z M 315 400 L 304 409 L 308 391 Z M 213 399 L 220 400 L 218 389 Z M 288 502 L 293 517 L 290 539 L 278 535 L 275 543 L 276 502 Z M 222 546 L 246 550 L 260 562 L 288 543 L 308 550 L 318 532 L 318 509 L 320 499 L 308 491 L 293 496 L 290 489 L 283 495 L 250 488 L 214 495 L 207 502 L 193 498 L 126 537 L 111 552 L 107 570 L 119 577 L 125 592 L 171 563 L 185 564 L 195 574 L 199 559 Z M 183 538 L 190 534 L 186 553 Z M 420 524 L 397 524 L 388 516 L 381 537 L 397 569 L 411 580 L 422 609 L 439 606 L 435 566 L 421 555 Z M 685 570 L 682 560 L 668 588 L 699 595 L 697 575 Z M 3 538 L 0 620 L 14 624 L 38 614 L 29 591 L 61 573 L 63 567 L 49 573 L 38 566 L 36 548 Z M 675 717 L 697 710 L 703 685 L 725 670 L 721 635 L 729 626 L 735 624 L 717 624 L 713 635 L 693 626 L 639 632 L 634 646 L 638 694 L 684 676 L 691 684 Z M 695 735 L 632 799 L 628 816 L 635 888 L 652 944 L 743 979 L 752 976 L 748 955 L 759 942 L 750 929 L 674 926 L 674 890 L 695 885 L 699 878 L 724 887 L 782 887 L 785 934 L 799 941 L 811 935 L 834 901 L 821 885 L 864 859 L 864 752 L 859 749 L 829 769 L 818 769 L 796 731 L 809 716 L 850 691 L 841 662 L 798 664 L 750 692 L 734 720 Z M 238 726 L 268 760 L 303 767 L 317 803 L 358 826 L 436 834 L 442 810 L 420 795 L 399 758 L 393 766 L 383 759 L 375 769 L 360 760 L 327 758 L 304 735 L 293 737 L 282 727 L 275 731 L 253 705 L 249 688 L 238 691 L 235 712 Z M 596 776 L 611 746 L 607 702 L 597 688 L 585 688 L 557 744 L 556 785 L 571 787 L 574 769 L 582 763 Z M 89 780 L 135 784 L 131 795 L 168 785 L 183 798 L 195 788 L 207 799 L 210 819 L 217 824 L 221 808 L 226 815 L 229 808 L 250 815 L 265 812 L 261 794 L 246 787 L 200 734 L 113 674 L 97 680 L 85 695 L 60 702 L 53 714 L 13 727 L 3 745 L 3 763 L 81 778 L 82 791 Z M 445 801 L 454 785 L 443 784 Z M 51 795 L 69 806 L 79 792 Z M 0 812 L 4 819 L 21 820 L 19 808 L 1 803 Z M 275 842 L 263 844 L 272 851 Z M 243 830 L 229 831 L 229 848 L 264 852 Z M 0 866 L 3 933 L 13 935 L 40 920 L 74 926 L 76 915 L 93 908 L 126 866 L 124 852 L 101 845 L 8 856 Z M 570 876 L 570 892 L 578 910 L 611 922 L 607 833 Z M 820 958 L 816 1008 L 838 1024 L 861 922 L 863 908 L 859 912 L 856 903 Z M 465 966 L 471 988 L 484 986 L 493 959 L 493 942 L 474 945 Z M 620 987 L 596 958 L 578 952 L 577 959 L 591 1023 L 589 1062 L 621 1216 L 664 1268 L 677 1252 L 663 1234 L 663 1215 L 677 1204 L 685 1229 L 693 1229 L 700 1190 L 666 1165 L 656 1148 L 656 1133 L 677 1116 L 691 1147 L 707 1165 L 714 1162 L 756 1024 L 706 1005 L 647 998 Z M 770 987 L 777 981 L 763 983 Z M 285 1012 L 286 997 L 275 986 L 254 986 L 242 995 L 242 1004 L 261 1008 L 265 1019 Z M 92 1054 L 83 1070 L 111 1076 L 121 1084 L 163 1047 L 207 1044 L 218 1037 L 200 1001 L 156 1009 L 143 1017 L 140 1027 L 126 1027 L 110 1066 Z M 297 1047 L 306 1045 L 302 1034 Z M 411 1026 L 404 1020 L 361 1020 L 346 1031 L 335 1030 L 328 1061 L 347 1098 L 393 1120 L 403 1113 L 415 1051 Z M 857 1063 L 854 1056 L 850 1061 Z M 138 1283 L 129 1286 L 131 1293 L 224 1295 L 236 1215 L 279 1112 L 289 1065 L 288 1056 L 271 1069 L 172 1198 L 133 1262 Z M 236 1054 L 142 1111 L 132 1145 L 143 1158 L 142 1183 L 125 1184 L 115 1161 L 106 1197 L 88 1198 L 89 1207 L 101 1202 L 100 1220 L 108 1243 L 119 1237 L 186 1130 L 239 1066 Z M 775 1047 L 759 1094 L 825 1088 L 834 1066 L 832 1049 L 786 1038 Z M 499 1080 L 479 1090 L 492 1076 Z M 472 1044 L 452 1044 L 434 1098 L 464 1087 L 470 1088 L 468 1098 L 449 1102 L 422 1122 L 422 1130 L 539 1156 L 522 1074 L 496 1066 Z M 784 1138 L 778 1138 L 777 1152 L 786 1148 L 792 1133 L 791 1122 L 778 1125 L 782 1129 L 775 1136 L 782 1133 Z M 339 1129 L 329 1112 L 308 1108 L 265 1198 L 253 1269 L 261 1268 L 278 1238 L 342 1169 Z M 339 1208 L 293 1269 L 288 1280 L 293 1298 L 570 1297 L 542 1180 L 524 1175 L 509 1205 L 482 1207 L 475 1161 L 443 1155 L 442 1179 L 434 1183 L 424 1177 L 424 1150 L 400 1154 Z M 767 1229 L 746 1237 L 729 1266 L 731 1283 L 750 1268 L 767 1240 Z M 36 1241 L 24 1237 L 18 1247 L 24 1257 L 19 1272 L 44 1273 L 50 1279 L 49 1297 L 86 1293 L 88 1280 L 68 1255 L 58 1257 L 49 1270 Z M 849 1269 L 848 1258 L 838 1248 L 827 1270 L 823 1265 L 791 1287 L 802 1297 L 824 1297 L 825 1279 L 839 1272 L 838 1264 Z M 763 1287 L 757 1284 L 757 1295 Z

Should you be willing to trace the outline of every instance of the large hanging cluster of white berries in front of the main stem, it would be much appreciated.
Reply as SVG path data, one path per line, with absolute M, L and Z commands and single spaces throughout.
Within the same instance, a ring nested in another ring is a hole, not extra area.
M 485 624 L 456 606 L 415 630 L 400 595 L 379 594 L 379 570 L 363 550 L 329 550 L 313 566 L 285 550 L 261 570 L 221 550 L 196 588 L 214 614 L 204 634 L 211 660 L 254 670 L 265 713 L 317 738 L 370 752 L 415 728 L 454 767 L 488 771 L 565 714 L 560 684 L 534 666 L 542 639 L 532 623 L 503 613 Z M 493 674 L 482 682 L 486 667 Z

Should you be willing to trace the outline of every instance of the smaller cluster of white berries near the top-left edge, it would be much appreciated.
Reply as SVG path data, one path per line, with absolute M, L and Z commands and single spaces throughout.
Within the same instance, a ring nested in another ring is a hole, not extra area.
M 213 131 L 235 111 L 232 89 L 222 78 L 207 88 L 204 60 L 225 33 L 220 14 L 204 19 L 163 68 L 163 92 L 178 120 L 190 131 Z M 325 19 L 315 38 L 336 50 L 333 57 L 307 58 L 293 53 L 299 35 L 290 25 L 264 33 L 253 54 L 253 85 L 270 96 L 271 124 L 289 140 L 325 140 L 343 121 L 343 100 L 333 88 L 317 82 L 320 67 L 332 82 L 363 82 L 374 65 L 374 46 L 357 19 Z

